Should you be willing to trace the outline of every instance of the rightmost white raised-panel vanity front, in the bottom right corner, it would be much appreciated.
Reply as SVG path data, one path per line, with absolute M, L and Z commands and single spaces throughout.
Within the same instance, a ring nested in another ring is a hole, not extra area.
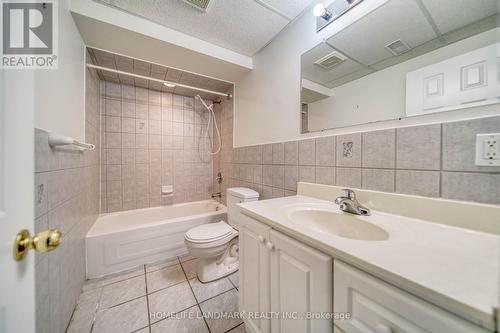
M 351 313 L 350 320 L 335 321 L 344 332 L 487 332 L 341 261 L 334 272 L 335 311 Z

